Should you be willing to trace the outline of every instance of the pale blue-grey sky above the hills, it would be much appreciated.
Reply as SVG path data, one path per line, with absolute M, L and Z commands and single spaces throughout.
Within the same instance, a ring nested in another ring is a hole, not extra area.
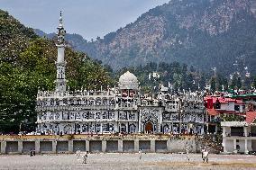
M 0 0 L 7 11 L 25 26 L 47 33 L 56 32 L 59 11 L 68 33 L 86 40 L 116 31 L 142 14 L 169 0 Z

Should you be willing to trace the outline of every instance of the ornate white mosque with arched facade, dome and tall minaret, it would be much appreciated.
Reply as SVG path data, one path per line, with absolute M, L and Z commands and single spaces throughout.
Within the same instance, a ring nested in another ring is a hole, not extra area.
M 129 71 L 120 76 L 117 87 L 69 92 L 65 77 L 65 33 L 60 13 L 56 88 L 37 94 L 37 130 L 41 133 L 204 134 L 206 112 L 200 92 L 173 94 L 160 85 L 157 94 L 141 94 L 137 77 Z

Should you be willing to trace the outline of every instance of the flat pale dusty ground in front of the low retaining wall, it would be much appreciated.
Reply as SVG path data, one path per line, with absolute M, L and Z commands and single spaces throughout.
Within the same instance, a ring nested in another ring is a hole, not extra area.
M 204 164 L 201 155 L 191 154 L 187 163 L 185 154 L 89 154 L 87 165 L 82 164 L 76 155 L 2 155 L 0 169 L 256 169 L 255 156 L 210 155 L 209 163 Z

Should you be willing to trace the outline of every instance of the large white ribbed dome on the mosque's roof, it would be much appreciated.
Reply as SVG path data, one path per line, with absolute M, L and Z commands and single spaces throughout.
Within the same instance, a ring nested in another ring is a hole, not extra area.
M 129 71 L 125 72 L 122 76 L 119 77 L 118 86 L 120 89 L 139 89 L 139 82 L 136 76 Z

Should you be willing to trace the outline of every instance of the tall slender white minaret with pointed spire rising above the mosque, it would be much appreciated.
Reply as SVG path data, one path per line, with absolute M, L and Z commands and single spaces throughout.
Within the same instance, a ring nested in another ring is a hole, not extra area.
M 58 48 L 58 58 L 57 62 L 55 62 L 57 67 L 57 79 L 55 81 L 56 83 L 56 92 L 65 92 L 66 91 L 66 84 L 67 80 L 65 79 L 65 67 L 66 67 L 66 61 L 64 60 L 64 52 L 65 52 L 65 40 L 64 36 L 66 31 L 63 27 L 62 22 L 62 12 L 60 11 L 60 17 L 59 17 L 59 27 L 58 29 L 58 42 L 56 44 Z

